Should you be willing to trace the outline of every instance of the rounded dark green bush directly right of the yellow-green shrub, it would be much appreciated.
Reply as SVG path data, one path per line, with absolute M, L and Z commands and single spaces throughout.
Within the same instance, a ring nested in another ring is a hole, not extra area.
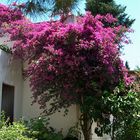
M 52 127 L 48 127 L 48 119 L 39 117 L 31 119 L 26 123 L 28 131 L 26 135 L 37 140 L 62 140 L 61 132 L 56 132 Z

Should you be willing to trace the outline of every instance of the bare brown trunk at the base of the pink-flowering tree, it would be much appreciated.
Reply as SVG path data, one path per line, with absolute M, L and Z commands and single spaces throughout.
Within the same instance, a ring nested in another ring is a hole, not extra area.
M 80 118 L 80 125 L 84 135 L 84 140 L 90 140 L 91 126 L 93 121 L 89 118 L 87 113 L 83 113 Z

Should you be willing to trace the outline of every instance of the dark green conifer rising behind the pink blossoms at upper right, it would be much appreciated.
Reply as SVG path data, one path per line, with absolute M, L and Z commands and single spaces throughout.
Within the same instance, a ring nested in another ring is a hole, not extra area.
M 86 10 L 92 15 L 110 13 L 118 19 L 118 25 L 126 27 L 130 27 L 135 21 L 125 13 L 126 6 L 117 5 L 114 0 L 87 0 Z

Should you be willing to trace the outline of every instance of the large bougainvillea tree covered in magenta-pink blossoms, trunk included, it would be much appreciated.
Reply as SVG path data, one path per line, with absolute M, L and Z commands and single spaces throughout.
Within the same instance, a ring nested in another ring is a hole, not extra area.
M 125 88 L 133 81 L 120 59 L 118 44 L 127 29 L 104 26 L 104 22 L 116 22 L 110 14 L 87 13 L 70 24 L 34 24 L 18 8 L 0 5 L 0 10 L 1 28 L 15 42 L 13 56 L 28 61 L 25 76 L 30 79 L 33 102 L 45 114 L 77 104 L 82 132 L 89 140 L 93 120 L 102 124 L 113 113 L 102 104 L 104 93 L 113 93 L 120 81 Z

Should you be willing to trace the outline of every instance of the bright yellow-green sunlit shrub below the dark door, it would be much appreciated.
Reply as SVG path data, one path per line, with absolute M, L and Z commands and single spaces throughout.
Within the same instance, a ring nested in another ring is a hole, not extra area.
M 0 118 L 0 140 L 33 140 L 24 135 L 27 128 L 23 122 L 9 124 L 3 113 Z

